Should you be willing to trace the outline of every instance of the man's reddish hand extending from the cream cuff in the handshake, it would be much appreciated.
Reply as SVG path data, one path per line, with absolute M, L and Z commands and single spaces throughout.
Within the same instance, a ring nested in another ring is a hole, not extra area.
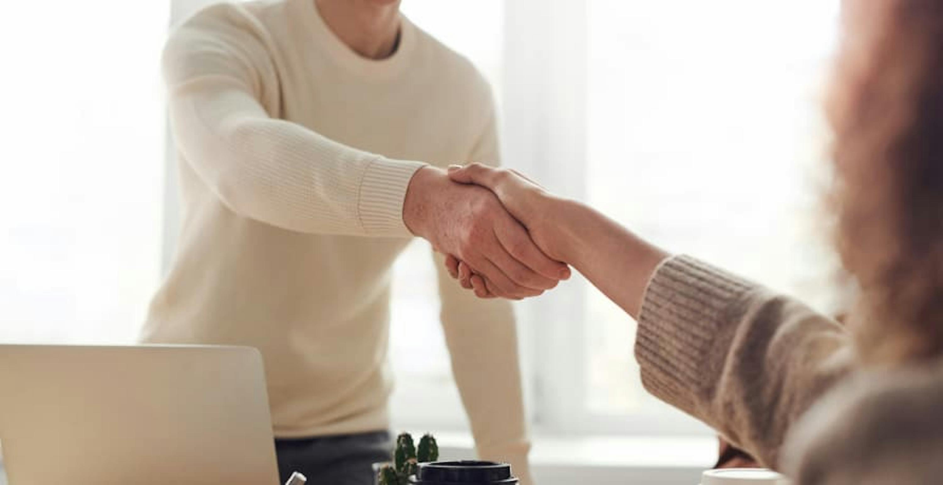
M 457 184 L 444 170 L 424 167 L 413 175 L 403 203 L 409 231 L 453 255 L 487 280 L 492 296 L 534 297 L 570 277 L 487 188 Z

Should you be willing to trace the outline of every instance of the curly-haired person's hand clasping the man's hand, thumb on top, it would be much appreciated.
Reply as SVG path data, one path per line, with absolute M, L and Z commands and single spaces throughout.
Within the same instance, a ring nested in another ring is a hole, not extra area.
M 554 225 L 548 216 L 554 213 L 554 204 L 560 202 L 542 186 L 514 170 L 493 169 L 473 163 L 465 167 L 449 167 L 449 177 L 461 184 L 484 186 L 491 190 L 505 206 L 511 216 L 517 218 L 527 229 L 538 248 L 548 257 L 563 260 L 563 240 L 554 234 Z M 445 261 L 453 278 L 463 287 L 473 289 L 481 298 L 493 298 L 493 284 L 471 267 L 449 254 Z

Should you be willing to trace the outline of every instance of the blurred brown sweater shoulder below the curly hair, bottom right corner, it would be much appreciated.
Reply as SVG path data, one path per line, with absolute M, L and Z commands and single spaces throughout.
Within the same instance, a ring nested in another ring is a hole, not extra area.
M 943 477 L 940 410 L 943 364 L 861 372 L 790 432 L 786 470 L 810 485 L 930 483 Z

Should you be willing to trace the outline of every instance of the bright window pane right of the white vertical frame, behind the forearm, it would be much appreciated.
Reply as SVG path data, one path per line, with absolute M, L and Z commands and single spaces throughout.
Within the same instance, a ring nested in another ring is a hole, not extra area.
M 823 310 L 819 93 L 837 0 L 587 2 L 587 201 L 671 251 Z M 634 324 L 587 290 L 584 406 L 657 412 Z

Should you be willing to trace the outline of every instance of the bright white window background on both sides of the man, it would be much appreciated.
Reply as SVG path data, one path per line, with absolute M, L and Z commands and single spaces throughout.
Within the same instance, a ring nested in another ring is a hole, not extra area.
M 157 59 L 171 17 L 207 3 L 6 6 L 0 342 L 135 337 L 178 215 Z M 812 216 L 838 0 L 405 0 L 403 9 L 494 85 L 506 165 L 671 251 L 839 308 Z M 585 282 L 519 310 L 539 436 L 705 435 L 644 393 L 634 322 Z M 391 335 L 397 426 L 466 431 L 421 242 L 396 267 Z

